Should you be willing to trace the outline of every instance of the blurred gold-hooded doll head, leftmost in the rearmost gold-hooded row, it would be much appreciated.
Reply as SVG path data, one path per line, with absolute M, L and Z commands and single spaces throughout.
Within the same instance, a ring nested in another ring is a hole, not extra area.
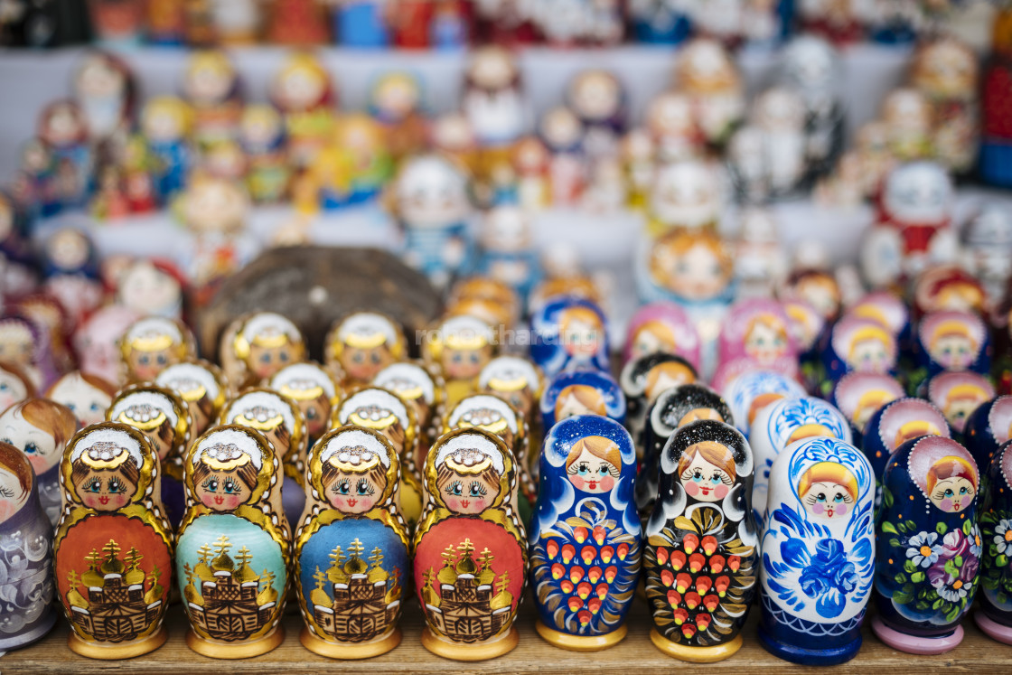
M 119 340 L 126 382 L 151 382 L 173 363 L 196 354 L 193 334 L 181 322 L 148 317 L 131 324 Z

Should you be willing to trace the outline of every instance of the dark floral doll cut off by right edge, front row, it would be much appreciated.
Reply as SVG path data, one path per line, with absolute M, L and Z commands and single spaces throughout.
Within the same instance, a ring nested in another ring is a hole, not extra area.
M 981 490 L 981 608 L 977 625 L 1012 645 L 1012 443 L 997 449 Z

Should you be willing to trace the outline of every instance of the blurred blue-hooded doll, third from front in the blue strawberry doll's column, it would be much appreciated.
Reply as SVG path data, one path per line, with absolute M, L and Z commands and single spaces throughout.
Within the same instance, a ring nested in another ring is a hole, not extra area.
M 530 321 L 534 332 L 530 357 L 546 377 L 577 368 L 608 372 L 607 322 L 594 303 L 554 298 Z

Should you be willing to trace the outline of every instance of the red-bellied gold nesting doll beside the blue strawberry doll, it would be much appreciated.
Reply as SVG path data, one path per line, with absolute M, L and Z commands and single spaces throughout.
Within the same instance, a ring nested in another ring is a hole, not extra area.
M 455 661 L 513 650 L 527 579 L 513 453 L 496 435 L 457 429 L 425 460 L 428 505 L 414 537 L 414 582 L 425 615 L 422 645 Z

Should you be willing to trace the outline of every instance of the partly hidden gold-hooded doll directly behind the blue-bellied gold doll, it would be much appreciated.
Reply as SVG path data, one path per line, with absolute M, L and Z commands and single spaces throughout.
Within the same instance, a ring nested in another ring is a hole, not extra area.
M 397 394 L 378 387 L 355 390 L 334 409 L 331 427 L 345 424 L 363 426 L 387 436 L 401 456 L 401 508 L 404 517 L 414 524 L 422 514 L 422 468 L 425 456 L 419 452 L 418 420 L 414 408 Z

